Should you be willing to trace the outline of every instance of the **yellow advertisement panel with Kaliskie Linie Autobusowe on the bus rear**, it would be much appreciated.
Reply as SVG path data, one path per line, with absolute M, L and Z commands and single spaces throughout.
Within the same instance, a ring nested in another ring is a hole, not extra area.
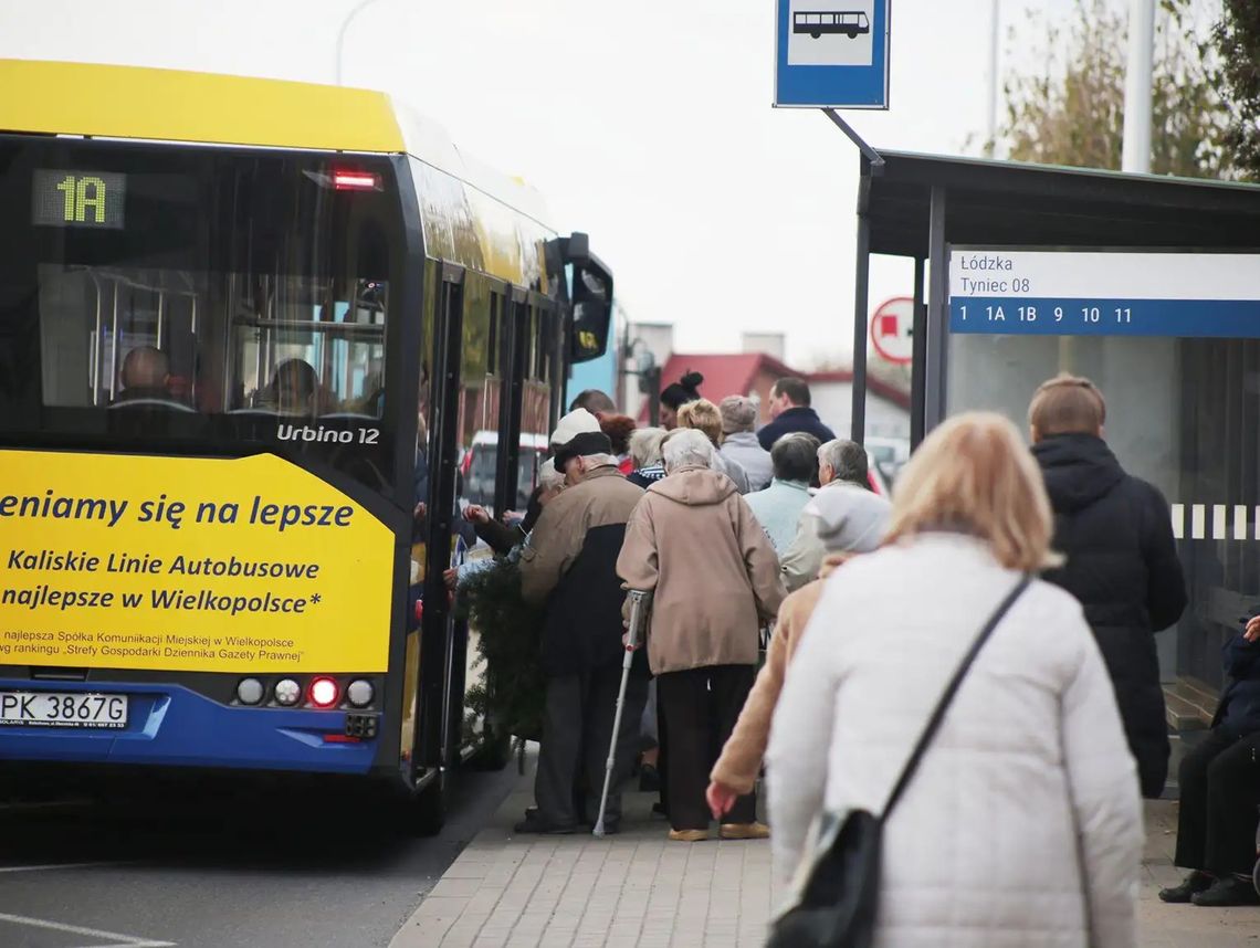
M 386 671 L 393 534 L 273 454 L 0 451 L 0 665 Z

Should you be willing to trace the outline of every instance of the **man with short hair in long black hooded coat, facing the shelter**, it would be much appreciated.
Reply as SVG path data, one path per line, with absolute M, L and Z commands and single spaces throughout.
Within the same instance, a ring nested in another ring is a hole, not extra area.
M 1046 579 L 1085 607 L 1115 686 L 1142 794 L 1168 777 L 1168 725 L 1154 633 L 1186 608 L 1186 580 L 1168 504 L 1125 473 L 1102 441 L 1106 403 L 1092 383 L 1060 375 L 1028 409 L 1033 454 L 1055 509 L 1055 549 L 1067 561 Z

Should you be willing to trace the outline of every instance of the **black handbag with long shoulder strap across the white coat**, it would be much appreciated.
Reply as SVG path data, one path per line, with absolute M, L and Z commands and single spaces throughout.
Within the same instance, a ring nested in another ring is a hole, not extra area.
M 883 816 L 866 810 L 824 812 L 814 833 L 814 860 L 798 874 L 796 899 L 771 924 L 767 948 L 868 948 L 879 911 L 879 857 L 883 822 L 892 813 L 919 763 L 936 736 L 975 656 L 1016 599 L 1028 588 L 1023 577 L 1002 601 L 964 656 L 936 704 L 910 759 L 883 807 Z

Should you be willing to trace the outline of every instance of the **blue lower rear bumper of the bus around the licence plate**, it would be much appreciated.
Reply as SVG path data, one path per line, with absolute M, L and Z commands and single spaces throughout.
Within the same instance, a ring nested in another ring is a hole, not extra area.
M 220 767 L 363 774 L 377 740 L 324 742 L 345 733 L 345 711 L 241 708 L 179 685 L 0 679 L 0 691 L 86 691 L 127 695 L 127 726 L 0 726 L 0 760 Z

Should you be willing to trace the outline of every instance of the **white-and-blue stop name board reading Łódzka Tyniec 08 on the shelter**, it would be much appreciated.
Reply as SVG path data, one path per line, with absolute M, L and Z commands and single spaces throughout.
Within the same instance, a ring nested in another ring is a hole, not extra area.
M 1260 254 L 953 247 L 950 332 L 1260 339 Z

